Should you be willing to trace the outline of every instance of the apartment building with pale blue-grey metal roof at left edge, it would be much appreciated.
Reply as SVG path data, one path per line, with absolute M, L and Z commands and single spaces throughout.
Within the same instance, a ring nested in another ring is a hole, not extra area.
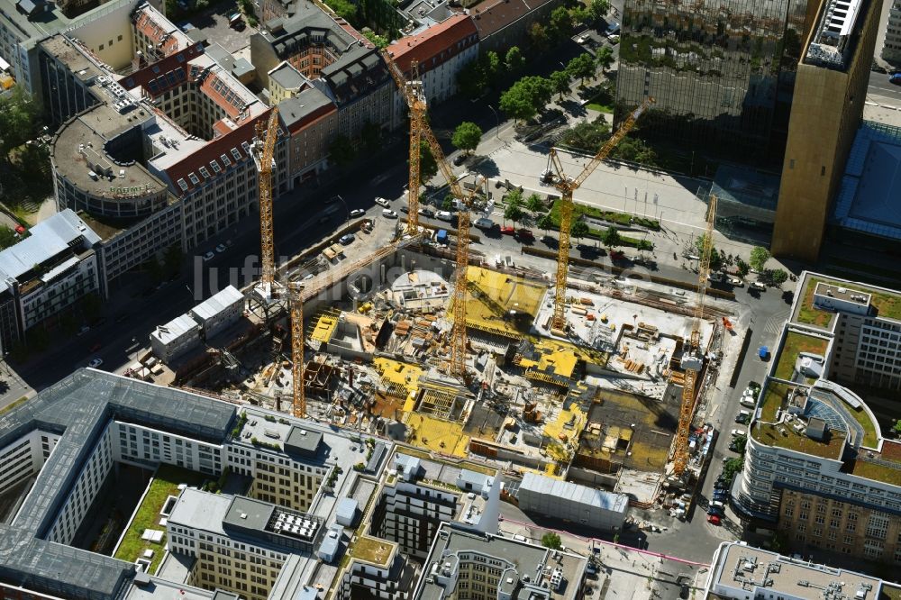
M 0 251 L 0 349 L 88 294 L 105 295 L 100 238 L 70 210 L 38 223 Z

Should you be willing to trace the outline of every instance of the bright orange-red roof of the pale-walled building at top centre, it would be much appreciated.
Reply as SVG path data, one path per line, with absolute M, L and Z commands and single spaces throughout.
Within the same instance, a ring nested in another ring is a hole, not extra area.
M 410 71 L 414 59 L 419 61 L 420 71 L 427 71 L 476 43 L 477 33 L 469 16 L 457 14 L 424 32 L 401 38 L 387 50 L 405 73 Z M 458 42 L 461 41 L 464 44 L 460 48 Z

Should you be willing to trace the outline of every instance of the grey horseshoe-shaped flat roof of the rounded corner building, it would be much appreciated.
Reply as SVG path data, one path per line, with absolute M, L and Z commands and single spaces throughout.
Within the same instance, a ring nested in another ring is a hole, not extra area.
M 107 141 L 153 120 L 153 114 L 143 105 L 128 114 L 120 114 L 105 103 L 95 105 L 59 128 L 52 146 L 53 163 L 59 173 L 79 189 L 108 196 L 110 202 L 115 197 L 111 188 L 138 187 L 141 188 L 138 195 L 164 190 L 166 185 L 151 175 L 140 162 L 120 165 L 105 151 Z M 95 170 L 97 165 L 111 169 L 114 178 L 98 176 Z M 120 177 L 120 171 L 123 171 L 123 177 Z M 96 174 L 95 177 L 90 176 L 91 172 Z

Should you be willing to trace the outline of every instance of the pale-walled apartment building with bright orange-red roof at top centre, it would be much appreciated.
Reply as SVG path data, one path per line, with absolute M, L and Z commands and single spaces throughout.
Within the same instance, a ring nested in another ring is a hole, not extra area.
M 478 31 L 469 15 L 454 14 L 441 23 L 400 38 L 387 51 L 407 78 L 413 77 L 415 61 L 426 100 L 440 104 L 457 93 L 460 68 L 478 58 Z M 399 90 L 394 105 L 394 126 L 398 127 L 406 108 Z

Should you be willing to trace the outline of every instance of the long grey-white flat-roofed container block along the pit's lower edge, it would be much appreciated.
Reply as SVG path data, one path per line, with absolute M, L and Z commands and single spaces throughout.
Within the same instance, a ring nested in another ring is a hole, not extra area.
M 629 496 L 613 494 L 569 481 L 526 473 L 519 486 L 519 507 L 526 513 L 557 518 L 603 532 L 623 530 Z

